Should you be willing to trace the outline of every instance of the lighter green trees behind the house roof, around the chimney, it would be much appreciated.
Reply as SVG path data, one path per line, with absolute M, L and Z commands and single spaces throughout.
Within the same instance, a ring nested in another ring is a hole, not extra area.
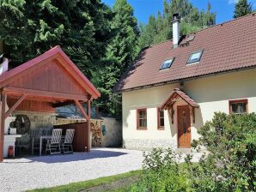
M 188 0 L 164 0 L 163 11 L 158 15 L 151 15 L 146 25 L 140 24 L 141 36 L 139 45 L 141 48 L 155 43 L 171 39 L 172 21 L 174 13 L 182 17 L 180 22 L 180 33 L 187 34 L 198 31 L 201 28 L 215 25 L 216 14 L 210 11 L 208 3 L 207 10 L 198 10 Z

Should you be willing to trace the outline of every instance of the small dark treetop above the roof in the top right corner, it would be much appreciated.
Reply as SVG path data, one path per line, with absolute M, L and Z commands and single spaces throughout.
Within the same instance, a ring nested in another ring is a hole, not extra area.
M 241 17 L 252 13 L 252 3 L 248 3 L 247 0 L 239 0 L 235 4 L 234 18 Z

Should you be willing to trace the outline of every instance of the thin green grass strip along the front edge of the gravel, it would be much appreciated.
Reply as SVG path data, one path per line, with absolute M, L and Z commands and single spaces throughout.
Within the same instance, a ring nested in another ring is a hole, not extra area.
M 45 192 L 45 191 L 51 191 L 51 192 L 64 192 L 64 191 L 71 192 L 72 191 L 73 192 L 73 191 L 79 191 L 82 189 L 88 189 L 88 188 L 92 188 L 95 186 L 99 186 L 101 184 L 112 183 L 121 178 L 137 176 L 141 172 L 142 171 L 140 171 L 140 170 L 130 171 L 130 172 L 122 173 L 119 175 L 96 178 L 96 179 L 88 180 L 85 182 L 70 183 L 70 184 L 61 185 L 61 186 L 52 187 L 52 188 L 33 189 L 33 190 L 28 190 L 28 191 L 30 191 L 30 192 Z

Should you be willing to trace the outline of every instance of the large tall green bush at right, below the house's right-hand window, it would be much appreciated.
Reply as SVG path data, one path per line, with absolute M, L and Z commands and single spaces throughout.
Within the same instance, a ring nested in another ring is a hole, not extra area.
M 208 155 L 191 169 L 195 191 L 256 191 L 256 115 L 215 113 L 212 121 L 199 130 L 193 141 L 196 148 L 206 147 Z

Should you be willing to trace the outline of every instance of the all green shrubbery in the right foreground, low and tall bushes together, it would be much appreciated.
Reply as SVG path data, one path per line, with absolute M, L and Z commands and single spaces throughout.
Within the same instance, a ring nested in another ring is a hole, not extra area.
M 256 191 L 256 114 L 216 113 L 199 134 L 192 146 L 206 153 L 198 164 L 188 155 L 180 169 L 174 152 L 155 149 L 131 191 Z

